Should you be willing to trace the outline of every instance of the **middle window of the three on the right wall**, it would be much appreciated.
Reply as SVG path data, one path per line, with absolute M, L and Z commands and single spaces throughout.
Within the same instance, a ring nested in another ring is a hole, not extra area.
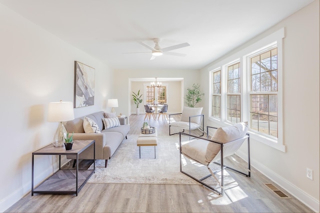
M 241 121 L 240 107 L 240 63 L 227 68 L 227 121 L 239 123 Z

